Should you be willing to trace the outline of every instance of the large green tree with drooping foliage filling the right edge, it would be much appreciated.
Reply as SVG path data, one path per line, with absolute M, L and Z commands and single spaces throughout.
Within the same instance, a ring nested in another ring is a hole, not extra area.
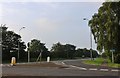
M 115 56 L 120 54 L 120 1 L 104 2 L 98 13 L 92 16 L 89 26 L 99 52 L 104 50 L 109 58 L 111 49 L 115 50 Z

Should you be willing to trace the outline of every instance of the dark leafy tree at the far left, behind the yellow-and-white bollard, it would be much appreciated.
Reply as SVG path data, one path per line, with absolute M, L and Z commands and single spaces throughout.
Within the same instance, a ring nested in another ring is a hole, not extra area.
M 1 25 L 2 29 L 2 60 L 11 60 L 11 57 L 17 58 L 18 52 L 18 42 L 20 43 L 20 59 L 24 58 L 26 45 L 22 40 L 20 35 L 13 31 L 8 31 L 8 27 Z

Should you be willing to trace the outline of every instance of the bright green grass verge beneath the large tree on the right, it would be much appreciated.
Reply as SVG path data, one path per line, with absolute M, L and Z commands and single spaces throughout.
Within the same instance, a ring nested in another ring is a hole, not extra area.
M 85 64 L 98 65 L 98 66 L 103 65 L 104 62 L 106 62 L 108 67 L 115 67 L 115 68 L 120 67 L 120 64 L 112 63 L 109 59 L 104 59 L 104 58 L 96 58 L 95 60 L 83 61 L 83 63 Z

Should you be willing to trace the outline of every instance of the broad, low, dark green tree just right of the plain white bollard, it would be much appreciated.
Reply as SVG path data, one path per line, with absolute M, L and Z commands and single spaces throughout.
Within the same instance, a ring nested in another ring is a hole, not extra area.
M 60 42 L 53 44 L 51 52 L 56 58 L 73 58 L 75 46 L 71 44 L 62 45 Z

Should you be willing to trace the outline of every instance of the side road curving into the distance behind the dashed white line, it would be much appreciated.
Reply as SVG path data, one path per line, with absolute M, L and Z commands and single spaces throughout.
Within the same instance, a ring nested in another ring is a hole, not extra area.
M 98 70 L 98 71 L 115 71 L 120 72 L 120 68 L 112 68 L 107 66 L 97 66 L 97 65 L 88 65 L 84 64 L 83 60 L 85 59 L 77 59 L 77 60 L 63 60 L 63 61 L 53 61 L 56 64 L 68 66 L 72 68 L 78 68 L 81 70 Z

